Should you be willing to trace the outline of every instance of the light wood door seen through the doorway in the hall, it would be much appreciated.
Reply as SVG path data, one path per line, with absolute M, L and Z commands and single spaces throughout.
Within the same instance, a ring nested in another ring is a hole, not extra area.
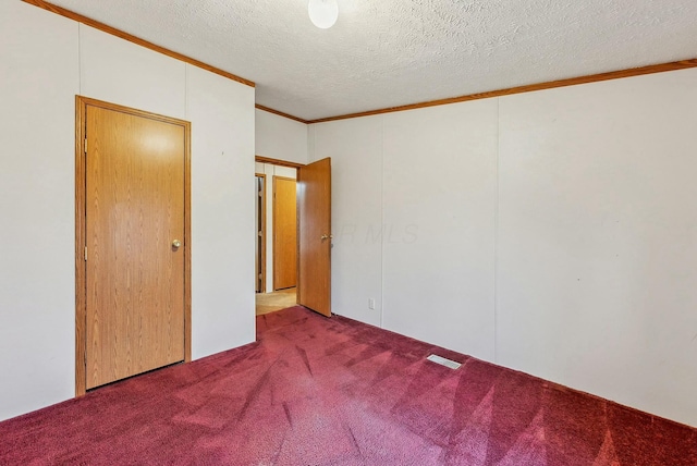
M 297 285 L 295 180 L 273 176 L 273 290 Z

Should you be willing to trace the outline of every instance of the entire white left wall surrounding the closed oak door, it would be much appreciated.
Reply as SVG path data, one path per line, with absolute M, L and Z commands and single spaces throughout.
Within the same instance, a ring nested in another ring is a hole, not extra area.
M 254 88 L 23 2 L 0 26 L 0 419 L 74 395 L 76 94 L 192 122 L 193 356 L 254 341 Z

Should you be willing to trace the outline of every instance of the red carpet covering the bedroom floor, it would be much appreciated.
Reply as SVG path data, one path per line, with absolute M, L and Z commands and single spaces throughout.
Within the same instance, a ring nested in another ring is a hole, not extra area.
M 697 430 L 519 372 L 298 307 L 257 326 L 258 343 L 0 422 L 0 464 L 697 464 Z

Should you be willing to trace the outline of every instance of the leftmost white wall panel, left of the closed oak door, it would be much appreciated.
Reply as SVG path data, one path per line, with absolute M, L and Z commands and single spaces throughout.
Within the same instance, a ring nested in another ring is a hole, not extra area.
M 0 2 L 0 420 L 75 390 L 77 25 Z

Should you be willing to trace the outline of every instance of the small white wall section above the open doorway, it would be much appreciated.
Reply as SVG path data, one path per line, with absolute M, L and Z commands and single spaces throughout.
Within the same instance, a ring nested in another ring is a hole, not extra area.
M 307 125 L 256 109 L 256 155 L 307 163 Z

